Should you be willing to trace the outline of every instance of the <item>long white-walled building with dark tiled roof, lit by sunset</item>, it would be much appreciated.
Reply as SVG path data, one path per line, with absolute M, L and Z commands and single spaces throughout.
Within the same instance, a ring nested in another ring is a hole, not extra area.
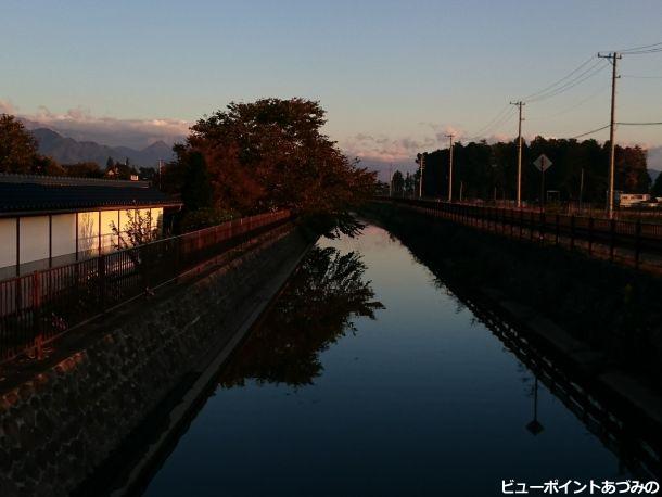
M 115 250 L 130 212 L 163 232 L 180 208 L 147 181 L 0 174 L 0 279 Z

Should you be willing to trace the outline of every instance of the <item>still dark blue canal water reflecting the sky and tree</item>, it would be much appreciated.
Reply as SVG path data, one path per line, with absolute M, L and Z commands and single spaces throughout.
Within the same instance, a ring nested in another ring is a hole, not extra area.
M 542 383 L 532 433 L 534 378 L 368 226 L 319 242 L 147 495 L 491 496 L 510 479 L 629 477 Z

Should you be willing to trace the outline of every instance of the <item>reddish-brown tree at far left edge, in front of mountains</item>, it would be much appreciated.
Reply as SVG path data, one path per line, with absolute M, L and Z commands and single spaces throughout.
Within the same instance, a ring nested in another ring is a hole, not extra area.
M 33 173 L 37 157 L 37 140 L 23 123 L 0 114 L 0 173 Z

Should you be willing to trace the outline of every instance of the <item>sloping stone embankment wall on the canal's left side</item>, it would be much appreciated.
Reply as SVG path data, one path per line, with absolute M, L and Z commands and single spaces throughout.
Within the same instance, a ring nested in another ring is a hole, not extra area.
M 67 495 L 88 482 L 238 342 L 309 245 L 292 228 L 263 235 L 220 268 L 109 316 L 85 346 L 5 392 L 0 495 Z

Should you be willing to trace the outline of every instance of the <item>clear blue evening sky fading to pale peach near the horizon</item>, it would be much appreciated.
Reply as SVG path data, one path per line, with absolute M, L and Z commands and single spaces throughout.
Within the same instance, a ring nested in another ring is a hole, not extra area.
M 0 112 L 137 146 L 178 139 L 230 101 L 303 97 L 347 154 L 402 167 L 448 132 L 511 139 L 509 101 L 599 51 L 662 42 L 662 1 L 0 0 Z M 595 61 L 593 77 L 527 103 L 526 138 L 609 123 L 611 67 Z M 662 122 L 662 52 L 619 69 L 616 119 Z M 662 126 L 616 138 L 662 168 Z

